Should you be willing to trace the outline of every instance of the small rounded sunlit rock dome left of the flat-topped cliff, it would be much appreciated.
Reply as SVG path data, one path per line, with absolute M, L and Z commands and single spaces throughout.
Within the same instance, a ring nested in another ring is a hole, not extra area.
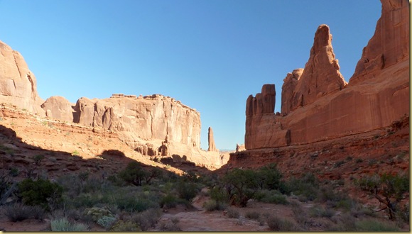
M 43 104 L 41 108 L 45 111 L 45 116 L 51 119 L 59 119 L 72 123 L 73 121 L 73 109 L 74 104 L 65 99 L 63 96 L 51 96 Z

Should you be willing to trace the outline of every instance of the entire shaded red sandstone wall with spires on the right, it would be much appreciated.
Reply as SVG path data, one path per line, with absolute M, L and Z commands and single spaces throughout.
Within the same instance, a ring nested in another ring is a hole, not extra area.
M 390 126 L 409 116 L 409 4 L 381 0 L 381 18 L 349 83 L 340 74 L 330 28 L 316 30 L 304 69 L 246 101 L 246 150 L 302 145 Z

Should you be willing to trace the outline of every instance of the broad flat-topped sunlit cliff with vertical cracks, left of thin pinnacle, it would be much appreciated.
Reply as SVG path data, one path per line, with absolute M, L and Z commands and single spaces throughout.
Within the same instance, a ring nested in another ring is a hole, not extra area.
M 81 98 L 75 112 L 75 123 L 127 132 L 129 144 L 133 138 L 163 140 L 168 135 L 168 140 L 175 143 L 200 147 L 200 114 L 167 96 Z

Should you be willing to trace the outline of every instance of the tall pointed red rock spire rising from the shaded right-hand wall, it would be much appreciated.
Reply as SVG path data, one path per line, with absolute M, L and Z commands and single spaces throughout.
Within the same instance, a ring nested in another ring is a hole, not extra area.
M 293 89 L 291 100 L 285 100 L 290 106 L 290 111 L 295 110 L 298 106 L 311 104 L 321 96 L 343 89 L 347 83 L 339 69 L 338 61 L 333 53 L 332 35 L 329 27 L 321 25 L 316 30 L 313 47 L 310 49 L 310 57 L 306 62 L 305 69 L 300 76 L 297 74 L 299 79 Z M 293 85 L 291 85 L 292 87 Z

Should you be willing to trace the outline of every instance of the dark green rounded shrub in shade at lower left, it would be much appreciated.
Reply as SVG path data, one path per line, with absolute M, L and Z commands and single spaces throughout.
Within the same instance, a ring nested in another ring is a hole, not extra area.
M 62 201 L 63 188 L 48 180 L 24 179 L 18 183 L 18 191 L 23 204 L 29 206 L 42 206 L 50 209 L 55 208 Z

